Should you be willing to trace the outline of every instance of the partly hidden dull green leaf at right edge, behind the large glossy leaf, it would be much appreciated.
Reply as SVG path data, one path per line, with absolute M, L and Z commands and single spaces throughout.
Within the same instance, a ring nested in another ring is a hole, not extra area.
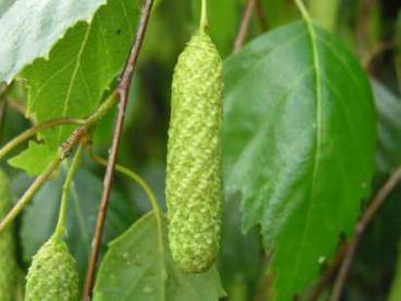
M 377 80 L 372 80 L 372 87 L 378 111 L 376 166 L 389 174 L 401 164 L 401 99 Z

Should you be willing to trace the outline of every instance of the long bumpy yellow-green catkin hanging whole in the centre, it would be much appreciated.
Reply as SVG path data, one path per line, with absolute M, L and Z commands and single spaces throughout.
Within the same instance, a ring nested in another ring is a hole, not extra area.
M 170 248 L 187 273 L 208 269 L 220 247 L 222 91 L 221 58 L 199 32 L 174 71 L 167 145 Z

